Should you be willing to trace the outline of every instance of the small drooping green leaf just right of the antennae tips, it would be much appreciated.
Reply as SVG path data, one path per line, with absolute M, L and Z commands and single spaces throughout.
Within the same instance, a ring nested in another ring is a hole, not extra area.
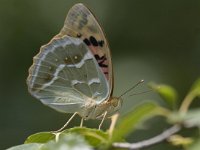
M 173 87 L 165 84 L 155 83 L 149 83 L 149 86 L 155 90 L 160 95 L 160 97 L 163 98 L 163 100 L 165 100 L 170 108 L 174 109 L 176 107 L 178 94 Z

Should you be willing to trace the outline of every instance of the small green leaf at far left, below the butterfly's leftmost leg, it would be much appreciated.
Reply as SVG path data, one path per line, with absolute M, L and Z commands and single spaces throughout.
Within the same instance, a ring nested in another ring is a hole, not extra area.
M 46 143 L 55 139 L 55 134 L 51 132 L 40 132 L 30 135 L 24 143 Z

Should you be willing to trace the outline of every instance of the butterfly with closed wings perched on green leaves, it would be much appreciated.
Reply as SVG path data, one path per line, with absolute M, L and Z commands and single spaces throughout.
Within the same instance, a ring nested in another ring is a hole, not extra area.
M 33 58 L 27 85 L 31 95 L 43 104 L 73 113 L 70 119 L 78 114 L 82 120 L 102 119 L 102 124 L 121 108 L 122 98 L 112 96 L 108 42 L 94 15 L 82 3 L 69 10 L 60 33 Z

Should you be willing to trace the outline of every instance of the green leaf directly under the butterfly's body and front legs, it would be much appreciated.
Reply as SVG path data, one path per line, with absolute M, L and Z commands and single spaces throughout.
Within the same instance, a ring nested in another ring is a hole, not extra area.
M 85 138 L 85 140 L 94 147 L 108 143 L 108 133 L 105 133 L 98 129 L 75 127 L 64 130 L 62 132 L 62 134 L 69 134 L 69 133 L 76 133 L 82 135 Z

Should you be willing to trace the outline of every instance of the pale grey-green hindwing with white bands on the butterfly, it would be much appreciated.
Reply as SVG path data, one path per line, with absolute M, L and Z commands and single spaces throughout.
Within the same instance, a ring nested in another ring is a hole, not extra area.
M 61 112 L 79 112 L 109 94 L 108 82 L 91 51 L 78 38 L 54 38 L 33 58 L 27 84 L 42 103 Z M 94 101 L 95 99 L 95 101 Z

